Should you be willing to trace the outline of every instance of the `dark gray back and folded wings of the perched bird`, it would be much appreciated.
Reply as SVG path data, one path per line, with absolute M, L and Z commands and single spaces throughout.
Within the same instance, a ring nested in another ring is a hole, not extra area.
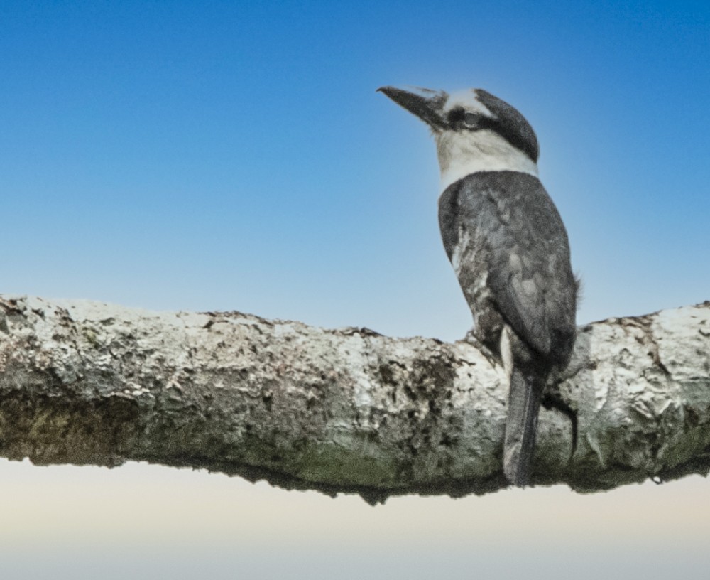
M 471 309 L 486 295 L 537 353 L 566 360 L 577 284 L 567 232 L 542 183 L 514 171 L 474 173 L 442 194 L 439 224 Z

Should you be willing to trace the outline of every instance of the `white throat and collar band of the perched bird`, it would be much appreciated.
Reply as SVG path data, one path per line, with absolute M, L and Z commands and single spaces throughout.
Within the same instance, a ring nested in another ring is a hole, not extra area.
M 537 177 L 537 163 L 491 131 L 442 131 L 435 133 L 441 190 L 479 171 L 520 171 Z

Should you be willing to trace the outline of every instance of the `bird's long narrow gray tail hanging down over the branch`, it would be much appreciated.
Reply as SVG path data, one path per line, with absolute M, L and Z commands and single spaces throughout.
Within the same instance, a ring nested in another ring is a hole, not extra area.
M 503 444 L 503 472 L 513 485 L 524 487 L 530 482 L 532 453 L 535 451 L 537 414 L 545 387 L 545 376 L 526 372 L 513 365 L 508 396 L 506 440 Z

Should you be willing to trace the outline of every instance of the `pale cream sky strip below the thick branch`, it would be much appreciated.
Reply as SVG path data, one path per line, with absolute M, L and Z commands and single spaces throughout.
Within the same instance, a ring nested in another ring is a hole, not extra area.
M 356 579 L 479 574 L 532 580 L 698 576 L 710 563 L 708 482 L 691 476 L 579 495 L 485 497 L 274 490 L 204 471 L 0 461 L 10 579 Z

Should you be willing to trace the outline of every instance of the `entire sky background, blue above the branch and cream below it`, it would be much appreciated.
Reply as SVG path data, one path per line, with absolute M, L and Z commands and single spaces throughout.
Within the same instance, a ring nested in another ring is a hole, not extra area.
M 435 151 L 381 85 L 484 87 L 540 141 L 579 323 L 710 299 L 710 6 L 0 2 L 4 294 L 455 340 Z M 0 576 L 704 576 L 710 483 L 484 497 L 0 460 Z

